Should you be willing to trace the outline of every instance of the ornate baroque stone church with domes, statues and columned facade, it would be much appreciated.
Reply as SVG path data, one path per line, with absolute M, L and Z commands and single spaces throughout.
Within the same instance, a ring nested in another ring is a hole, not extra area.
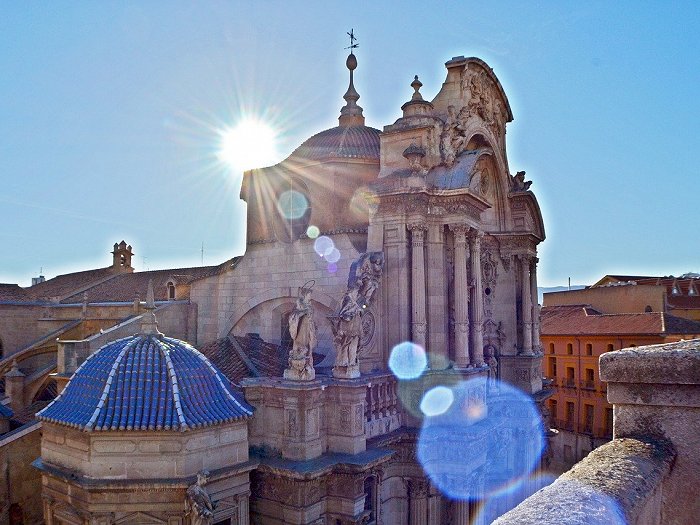
M 380 131 L 365 125 L 351 52 L 339 125 L 244 174 L 244 256 L 154 274 L 145 306 L 133 301 L 139 324 L 103 330 L 99 350 L 59 342 L 63 390 L 39 413 L 47 523 L 488 521 L 479 498 L 453 500 L 424 472 L 418 406 L 431 387 L 470 378 L 540 405 L 549 395 L 545 234 L 531 183 L 510 172 L 513 115 L 493 70 L 478 58 L 445 65 L 439 93 L 425 100 L 415 77 L 402 116 Z M 402 384 L 387 363 L 409 341 L 428 363 Z M 475 384 L 470 402 L 488 406 Z M 475 448 L 498 447 L 484 439 Z

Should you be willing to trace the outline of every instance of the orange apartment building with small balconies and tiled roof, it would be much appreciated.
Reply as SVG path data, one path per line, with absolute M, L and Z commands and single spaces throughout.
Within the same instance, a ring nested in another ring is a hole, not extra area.
M 635 279 L 644 284 L 633 284 Z M 694 276 L 606 276 L 590 288 L 544 294 L 542 367 L 554 389 L 550 425 L 559 430 L 552 443 L 554 468 L 569 468 L 612 436 L 612 406 L 598 375 L 600 355 L 699 338 L 698 286 Z

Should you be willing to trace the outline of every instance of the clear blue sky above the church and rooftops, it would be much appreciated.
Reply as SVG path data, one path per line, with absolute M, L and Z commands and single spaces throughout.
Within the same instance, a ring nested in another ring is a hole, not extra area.
M 17 2 L 0 5 L 0 282 L 244 249 L 217 128 L 337 125 L 345 32 L 367 124 L 432 98 L 452 56 L 494 68 L 547 240 L 540 284 L 700 270 L 700 7 L 652 2 Z

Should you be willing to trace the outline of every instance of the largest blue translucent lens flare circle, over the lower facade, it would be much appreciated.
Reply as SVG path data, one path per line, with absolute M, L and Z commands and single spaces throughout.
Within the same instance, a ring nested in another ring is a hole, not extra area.
M 450 388 L 454 400 L 439 415 L 426 415 L 418 439 L 418 459 L 437 488 L 475 500 L 527 478 L 546 439 L 532 398 L 483 377 Z

